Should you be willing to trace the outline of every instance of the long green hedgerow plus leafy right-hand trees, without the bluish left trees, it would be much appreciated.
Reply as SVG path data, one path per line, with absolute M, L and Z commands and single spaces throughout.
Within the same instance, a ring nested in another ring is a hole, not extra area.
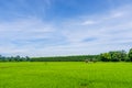
M 128 57 L 129 55 L 129 57 Z M 130 62 L 132 61 L 132 50 L 129 54 L 125 51 L 112 51 L 100 55 L 81 55 L 81 56 L 61 56 L 61 57 L 33 57 L 32 62 Z

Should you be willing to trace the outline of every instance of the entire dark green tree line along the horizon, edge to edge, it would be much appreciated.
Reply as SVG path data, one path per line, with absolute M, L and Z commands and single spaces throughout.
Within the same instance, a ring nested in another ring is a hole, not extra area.
M 55 57 L 6 57 L 0 55 L 0 62 L 132 62 L 132 48 L 125 51 L 111 51 L 99 55 L 55 56 Z

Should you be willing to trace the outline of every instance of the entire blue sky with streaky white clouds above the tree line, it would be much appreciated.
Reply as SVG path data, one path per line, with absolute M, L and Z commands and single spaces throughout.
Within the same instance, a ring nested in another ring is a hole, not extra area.
M 132 47 L 132 0 L 0 0 L 0 54 L 89 55 Z

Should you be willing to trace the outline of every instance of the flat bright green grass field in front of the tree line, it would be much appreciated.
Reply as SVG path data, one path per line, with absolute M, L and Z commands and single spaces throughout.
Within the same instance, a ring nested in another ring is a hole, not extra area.
M 132 63 L 0 63 L 0 88 L 132 88 Z

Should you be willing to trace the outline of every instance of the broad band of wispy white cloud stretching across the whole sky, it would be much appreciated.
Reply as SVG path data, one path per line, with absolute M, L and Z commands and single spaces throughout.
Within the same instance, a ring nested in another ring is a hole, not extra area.
M 31 8 L 40 2 L 36 1 L 31 6 L 26 0 L 22 2 L 20 0 L 18 3 L 21 3 L 22 8 L 24 6 L 30 11 L 29 13 L 36 12 L 28 14 L 26 18 L 23 15 L 22 18 L 12 18 L 11 21 L 7 21 L 7 19 L 0 21 L 0 54 L 21 56 L 80 55 L 114 50 L 128 51 L 132 47 L 131 4 L 121 4 L 101 13 L 84 13 L 75 18 L 58 18 L 47 21 L 42 16 L 42 14 L 46 15 L 46 11 L 44 10 L 47 9 L 47 6 L 52 8 L 53 0 L 42 1 L 46 8 L 37 6 L 35 10 L 32 10 Z M 9 3 L 12 6 L 11 2 Z M 19 13 L 14 8 L 9 9 L 11 13 Z

